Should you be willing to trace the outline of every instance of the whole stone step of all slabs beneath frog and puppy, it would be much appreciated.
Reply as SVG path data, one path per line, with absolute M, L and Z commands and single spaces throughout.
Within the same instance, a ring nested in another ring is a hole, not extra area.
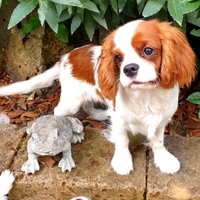
M 5 126 L 0 129 L 0 172 L 11 166 L 16 177 L 10 200 L 70 200 L 75 196 L 92 200 L 200 200 L 200 138 L 166 136 L 166 148 L 181 162 L 180 171 L 169 175 L 155 167 L 151 150 L 143 145 L 145 139 L 131 136 L 134 171 L 121 176 L 110 166 L 113 144 L 101 135 L 100 129 L 86 128 L 85 140 L 72 145 L 76 167 L 71 172 L 61 172 L 58 162 L 62 156 L 57 155 L 52 168 L 40 164 L 39 172 L 25 175 L 21 172 L 28 158 L 28 138 L 22 139 L 25 129 Z

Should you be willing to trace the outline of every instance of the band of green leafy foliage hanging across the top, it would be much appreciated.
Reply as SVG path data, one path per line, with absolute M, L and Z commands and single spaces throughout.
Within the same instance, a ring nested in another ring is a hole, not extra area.
M 4 0 L 9 4 L 9 0 Z M 92 40 L 96 22 L 112 30 L 127 21 L 145 17 L 176 22 L 186 32 L 187 24 L 192 24 L 190 34 L 200 37 L 200 0 L 18 0 L 8 29 L 18 24 L 34 9 L 38 17 L 29 19 L 20 34 L 43 26 L 46 21 L 58 39 L 68 41 L 69 22 L 73 34 L 83 24 Z M 2 0 L 0 0 L 0 7 Z M 65 36 L 64 36 L 65 35 Z

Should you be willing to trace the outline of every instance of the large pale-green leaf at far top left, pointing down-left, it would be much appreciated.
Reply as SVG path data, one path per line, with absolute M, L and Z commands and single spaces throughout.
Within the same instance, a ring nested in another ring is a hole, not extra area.
M 24 19 L 29 13 L 31 13 L 37 6 L 37 4 L 38 4 L 37 0 L 23 0 L 21 3 L 19 3 L 11 15 L 8 29 L 15 26 L 22 19 Z

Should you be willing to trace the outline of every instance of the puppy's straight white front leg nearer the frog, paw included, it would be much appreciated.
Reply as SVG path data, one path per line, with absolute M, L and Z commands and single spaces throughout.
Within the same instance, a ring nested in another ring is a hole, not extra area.
M 127 175 L 133 170 L 132 155 L 129 151 L 129 138 L 122 120 L 113 120 L 110 141 L 115 144 L 115 153 L 111 165 L 115 172 Z

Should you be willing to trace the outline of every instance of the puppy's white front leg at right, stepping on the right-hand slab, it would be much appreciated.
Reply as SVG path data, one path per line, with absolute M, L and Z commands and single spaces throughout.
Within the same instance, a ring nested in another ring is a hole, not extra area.
M 173 174 L 180 169 L 180 162 L 164 147 L 164 130 L 165 124 L 157 128 L 155 137 L 150 140 L 150 146 L 156 167 L 164 173 Z

